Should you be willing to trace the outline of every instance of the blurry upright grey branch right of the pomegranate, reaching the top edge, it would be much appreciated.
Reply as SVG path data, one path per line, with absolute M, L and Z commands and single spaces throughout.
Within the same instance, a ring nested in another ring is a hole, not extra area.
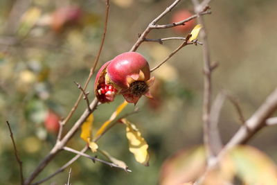
M 212 81 L 211 81 L 211 59 L 210 50 L 208 48 L 208 39 L 206 35 L 206 27 L 204 24 L 204 19 L 201 16 L 201 11 L 203 7 L 199 4 L 198 0 L 192 0 L 195 8 L 195 13 L 199 17 L 199 24 L 202 25 L 202 30 L 200 31 L 200 38 L 203 41 L 203 62 L 204 62 L 204 97 L 203 97 L 203 127 L 204 127 L 204 145 L 208 155 L 208 165 L 210 164 L 210 159 L 213 159 L 217 155 L 216 151 L 213 151 L 213 146 L 211 143 L 211 96 L 212 96 Z M 208 5 L 210 1 L 206 2 Z M 205 6 L 206 7 L 206 6 Z M 206 9 L 206 8 L 204 8 Z

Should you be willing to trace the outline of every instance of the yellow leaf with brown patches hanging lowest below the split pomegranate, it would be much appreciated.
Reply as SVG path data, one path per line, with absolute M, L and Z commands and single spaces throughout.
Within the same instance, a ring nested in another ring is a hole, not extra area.
M 148 166 L 149 154 L 148 154 L 148 144 L 145 139 L 141 136 L 141 132 L 136 128 L 136 126 L 127 119 L 122 119 L 126 127 L 126 136 L 129 141 L 129 151 L 134 154 L 136 161 Z

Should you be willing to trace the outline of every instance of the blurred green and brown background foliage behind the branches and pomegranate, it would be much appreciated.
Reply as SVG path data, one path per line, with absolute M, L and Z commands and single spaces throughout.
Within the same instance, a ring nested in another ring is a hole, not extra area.
M 112 0 L 106 42 L 100 64 L 129 51 L 146 26 L 168 6 L 165 0 Z M 213 61 L 220 66 L 213 73 L 214 95 L 227 89 L 238 98 L 248 118 L 276 87 L 277 2 L 273 0 L 221 0 L 211 3 L 206 15 L 208 40 Z M 170 23 L 176 10 L 193 10 L 190 1 L 180 3 L 161 23 Z M 55 129 L 46 129 L 46 116 L 55 112 L 65 117 L 80 93 L 73 81 L 84 84 L 98 52 L 105 2 L 93 0 L 1 0 L 0 1 L 0 184 L 19 184 L 17 162 L 5 121 L 10 121 L 27 176 L 51 150 Z M 150 38 L 184 36 L 172 29 L 153 30 Z M 139 48 L 150 66 L 179 45 L 179 41 L 145 42 Z M 186 46 L 167 64 L 154 72 L 157 77 L 154 101 L 141 98 L 139 114 L 129 117 L 150 146 L 150 166 L 137 164 L 127 148 L 125 128 L 117 125 L 98 145 L 127 163 L 132 173 L 93 164 L 80 158 L 72 167 L 71 183 L 157 184 L 163 161 L 181 148 L 202 143 L 202 51 Z M 95 77 L 95 76 L 94 76 Z M 93 78 L 94 78 L 93 77 Z M 89 85 L 93 99 L 93 80 Z M 123 101 L 98 107 L 95 127 L 100 127 Z M 133 109 L 132 105 L 125 112 Z M 66 125 L 69 130 L 86 107 L 84 101 Z M 224 142 L 240 126 L 231 103 L 225 103 L 220 116 Z M 251 145 L 277 161 L 276 129 L 265 129 Z M 76 136 L 69 146 L 80 150 L 84 142 Z M 37 179 L 60 168 L 73 155 L 60 152 Z M 44 184 L 64 184 L 64 173 Z

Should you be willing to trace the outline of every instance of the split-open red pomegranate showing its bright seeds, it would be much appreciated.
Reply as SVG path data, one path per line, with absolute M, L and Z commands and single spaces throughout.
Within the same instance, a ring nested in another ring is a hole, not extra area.
M 150 79 L 150 67 L 143 55 L 126 52 L 100 68 L 94 88 L 101 103 L 111 102 L 116 94 L 123 94 L 127 102 L 136 104 L 143 95 L 152 97 L 149 87 L 153 82 L 154 77 Z

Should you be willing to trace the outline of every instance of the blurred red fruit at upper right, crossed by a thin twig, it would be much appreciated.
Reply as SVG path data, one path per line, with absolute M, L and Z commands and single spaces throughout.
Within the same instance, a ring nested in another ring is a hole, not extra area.
M 190 13 L 188 10 L 179 10 L 175 12 L 175 14 L 172 16 L 172 22 L 176 23 L 179 21 L 183 21 L 184 19 L 187 19 L 188 17 L 191 17 L 191 16 L 193 16 L 193 14 Z M 173 27 L 173 29 L 177 33 L 188 33 L 191 30 L 193 30 L 195 25 L 196 25 L 196 19 L 192 19 L 186 22 L 185 25 L 175 26 Z

